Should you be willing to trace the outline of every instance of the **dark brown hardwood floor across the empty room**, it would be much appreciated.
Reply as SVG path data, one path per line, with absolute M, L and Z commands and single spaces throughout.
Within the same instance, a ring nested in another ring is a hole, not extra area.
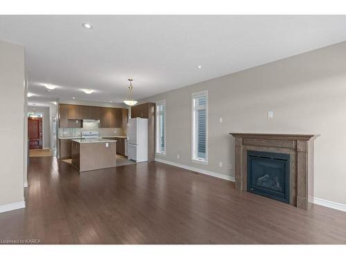
M 0 239 L 48 244 L 346 243 L 346 213 L 239 192 L 158 162 L 78 174 L 31 157 L 26 209 L 0 213 Z

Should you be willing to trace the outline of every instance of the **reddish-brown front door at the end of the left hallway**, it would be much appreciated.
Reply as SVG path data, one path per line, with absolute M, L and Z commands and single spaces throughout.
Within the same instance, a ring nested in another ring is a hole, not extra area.
M 28 117 L 29 149 L 42 149 L 42 117 Z

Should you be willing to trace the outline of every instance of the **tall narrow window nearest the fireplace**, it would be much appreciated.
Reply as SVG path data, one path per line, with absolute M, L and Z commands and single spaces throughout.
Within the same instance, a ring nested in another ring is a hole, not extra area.
M 192 160 L 208 163 L 208 91 L 192 94 Z

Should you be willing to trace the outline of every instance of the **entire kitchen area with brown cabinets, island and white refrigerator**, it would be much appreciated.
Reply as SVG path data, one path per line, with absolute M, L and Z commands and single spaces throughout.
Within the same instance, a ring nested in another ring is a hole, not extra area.
M 57 158 L 79 172 L 154 160 L 155 104 L 58 104 Z

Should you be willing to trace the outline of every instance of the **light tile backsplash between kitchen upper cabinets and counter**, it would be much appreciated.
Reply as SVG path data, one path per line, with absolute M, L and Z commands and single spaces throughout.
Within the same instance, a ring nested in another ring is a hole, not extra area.
M 97 122 L 83 122 L 83 128 L 59 128 L 59 137 L 80 136 L 82 131 L 98 131 L 100 136 L 125 135 L 122 128 L 99 128 Z

